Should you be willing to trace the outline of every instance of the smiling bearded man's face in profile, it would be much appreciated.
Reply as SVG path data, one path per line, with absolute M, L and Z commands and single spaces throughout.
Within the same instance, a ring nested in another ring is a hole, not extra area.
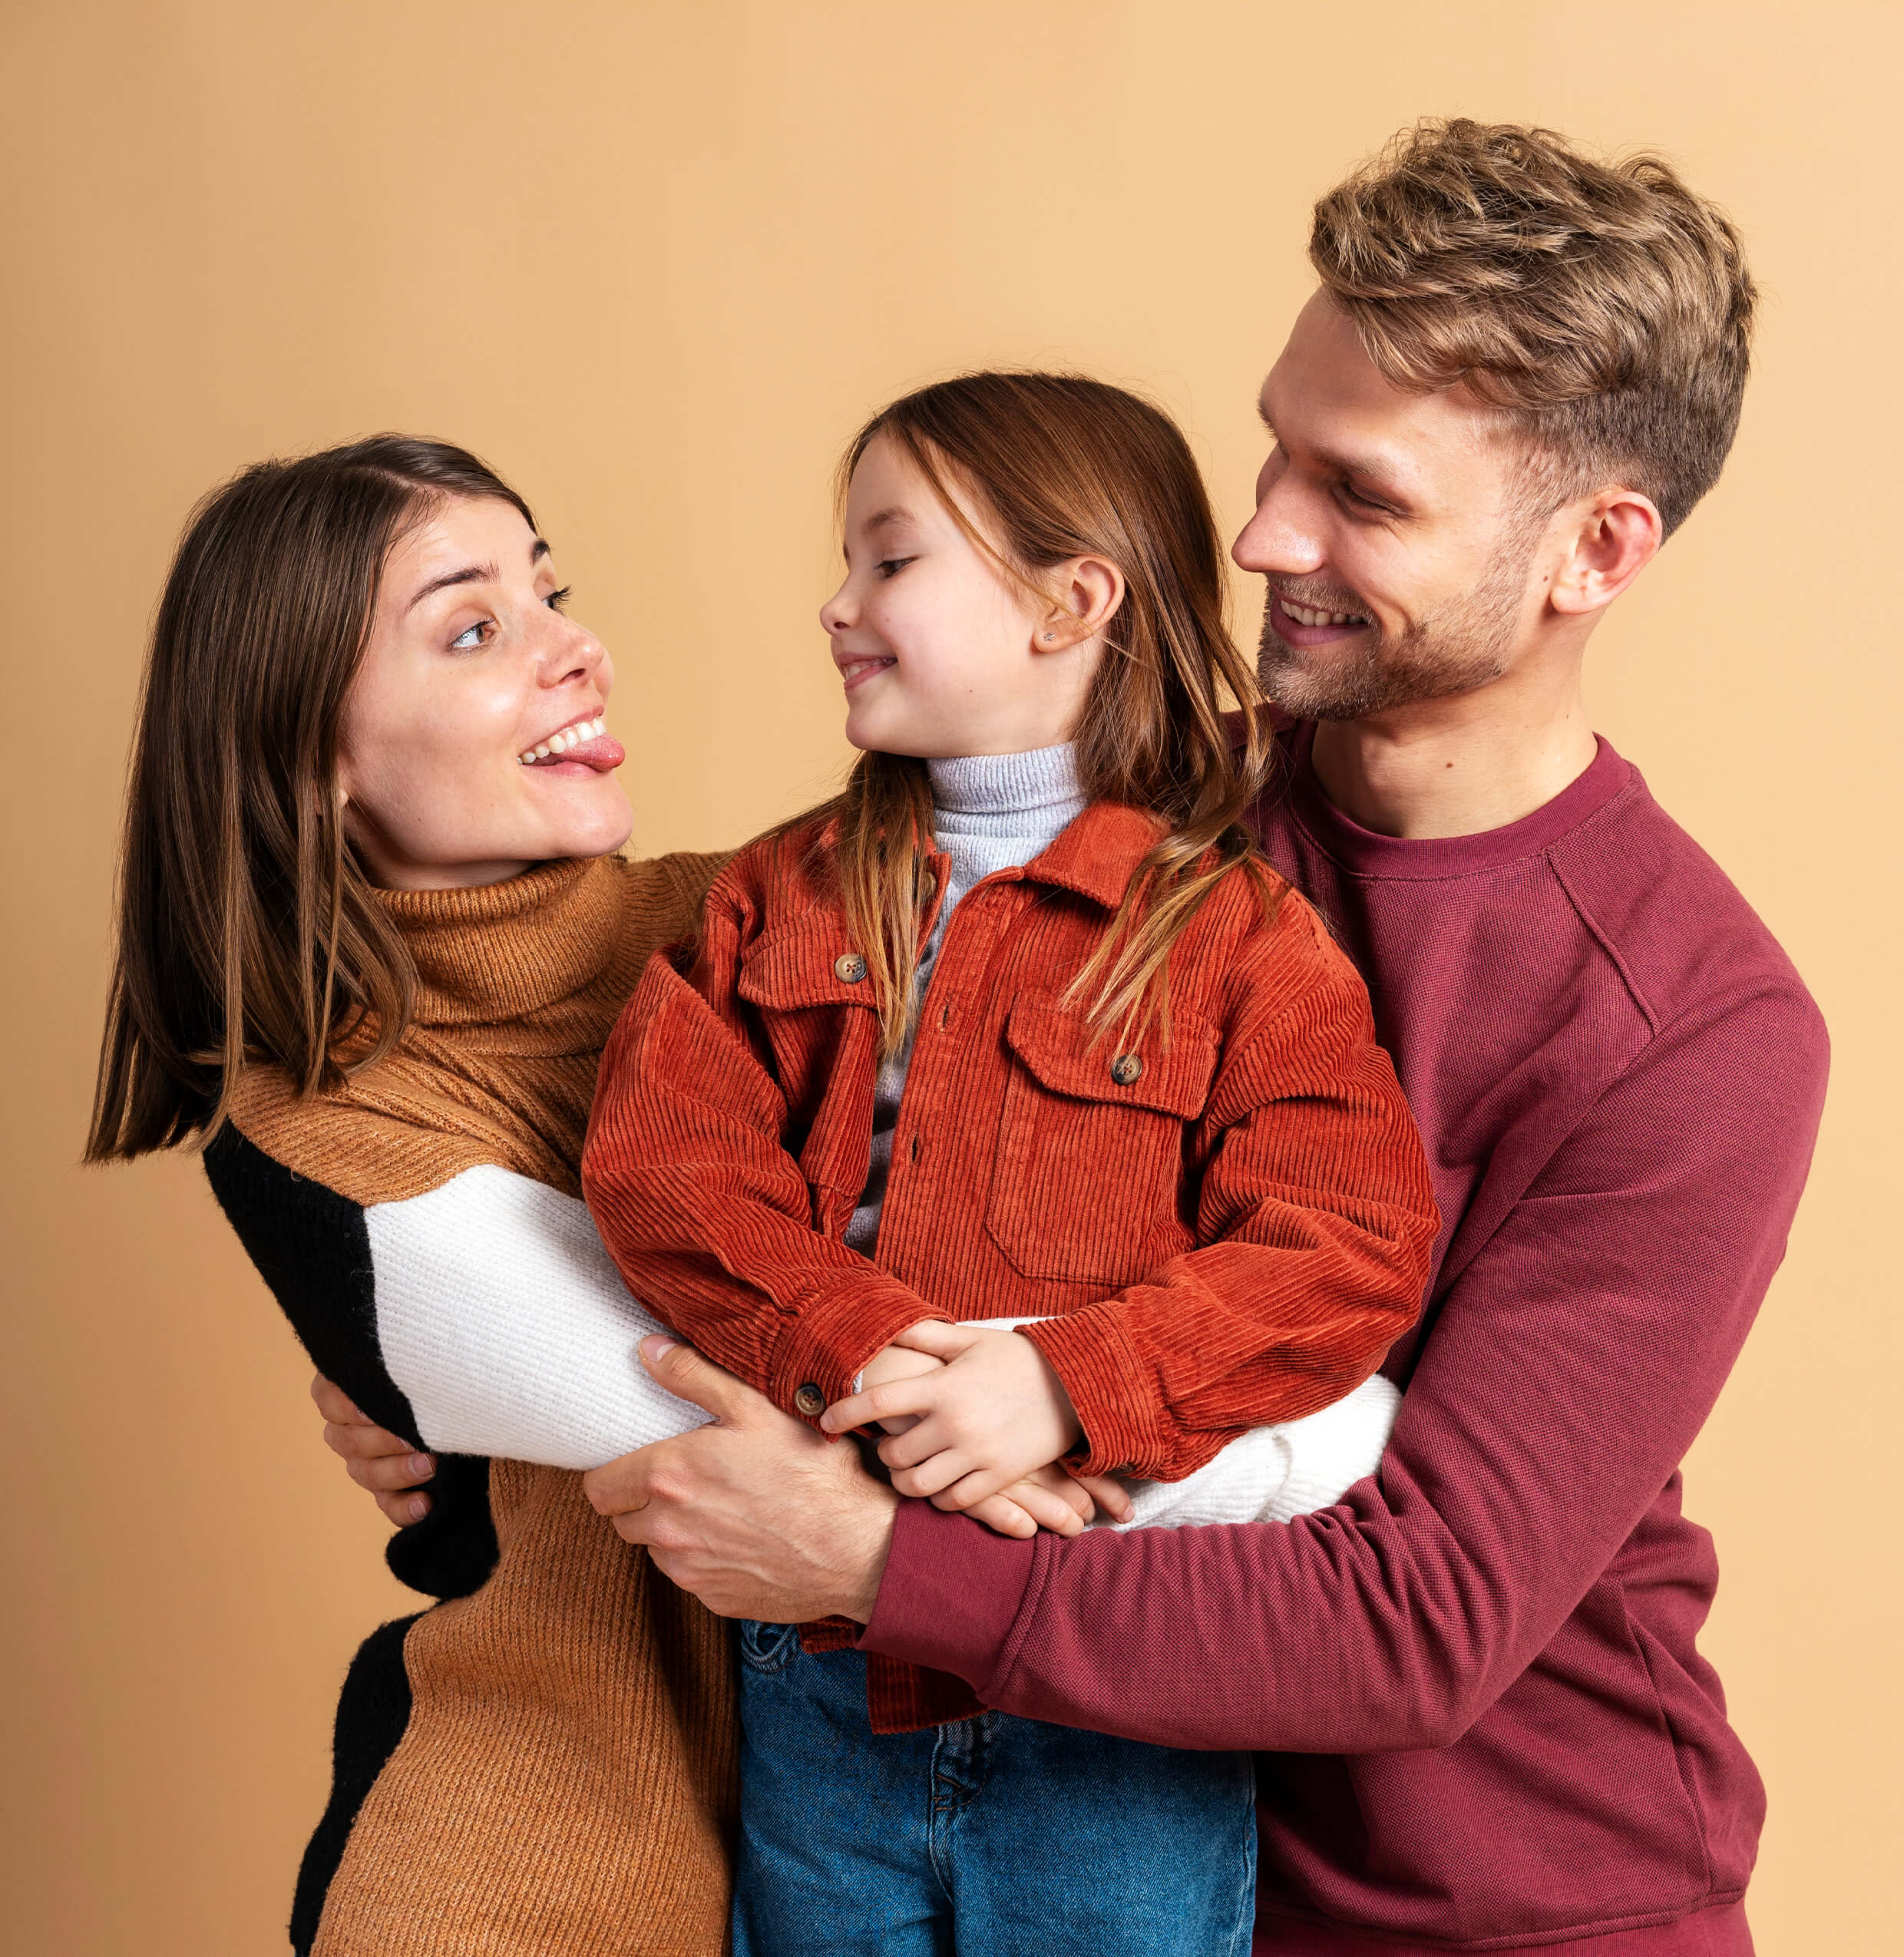
M 1542 614 L 1548 524 L 1497 417 L 1460 387 L 1391 387 L 1325 294 L 1260 411 L 1274 446 L 1231 554 L 1270 581 L 1264 693 L 1297 718 L 1352 720 L 1509 671 Z

